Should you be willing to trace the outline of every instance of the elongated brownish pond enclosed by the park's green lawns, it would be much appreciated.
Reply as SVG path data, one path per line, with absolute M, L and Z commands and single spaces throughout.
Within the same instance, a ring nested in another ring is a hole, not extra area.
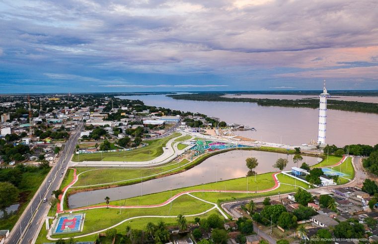
M 275 171 L 273 164 L 278 158 L 289 159 L 287 168 L 295 166 L 292 160 L 293 155 L 246 150 L 228 151 L 210 157 L 185 172 L 144 182 L 143 194 L 216 182 L 217 176 L 218 181 L 244 177 L 248 172 L 248 168 L 245 166 L 245 159 L 247 157 L 257 158 L 259 165 L 256 172 L 258 174 Z M 303 162 L 307 162 L 309 165 L 314 165 L 320 162 L 320 160 L 320 158 L 316 157 L 303 158 Z M 105 196 L 109 196 L 111 200 L 116 200 L 119 198 L 120 192 L 121 199 L 139 196 L 142 193 L 141 183 L 73 194 L 69 197 L 70 208 L 101 203 L 104 201 Z

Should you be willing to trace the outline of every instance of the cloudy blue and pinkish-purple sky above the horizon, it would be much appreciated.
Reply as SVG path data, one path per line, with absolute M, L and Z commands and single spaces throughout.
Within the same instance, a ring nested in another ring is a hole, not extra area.
M 0 0 L 0 94 L 378 89 L 377 0 Z

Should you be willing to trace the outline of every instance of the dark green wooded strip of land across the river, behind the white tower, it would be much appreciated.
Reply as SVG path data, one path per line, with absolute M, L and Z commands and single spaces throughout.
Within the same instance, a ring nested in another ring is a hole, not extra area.
M 257 99 L 257 98 L 227 98 L 223 97 L 225 93 L 198 93 L 198 94 L 180 94 L 167 95 L 178 100 L 195 100 L 195 101 L 217 101 L 217 102 L 244 102 L 257 103 L 259 106 L 278 106 L 293 108 L 319 108 L 317 99 Z M 378 114 L 377 103 L 362 103 L 353 101 L 328 100 L 327 108 L 333 110 L 343 110 L 352 112 L 374 113 Z

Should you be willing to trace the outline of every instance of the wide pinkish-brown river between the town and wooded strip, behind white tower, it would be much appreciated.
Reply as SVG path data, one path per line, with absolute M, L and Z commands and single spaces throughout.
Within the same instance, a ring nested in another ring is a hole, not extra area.
M 236 134 L 256 140 L 290 145 L 308 143 L 311 139 L 317 140 L 317 109 L 263 107 L 255 103 L 240 102 L 174 100 L 165 95 L 120 98 L 138 99 L 149 106 L 199 112 L 218 117 L 221 121 L 255 127 L 257 131 L 237 131 Z M 339 147 L 358 143 L 375 145 L 378 143 L 377 124 L 376 114 L 328 110 L 326 142 Z

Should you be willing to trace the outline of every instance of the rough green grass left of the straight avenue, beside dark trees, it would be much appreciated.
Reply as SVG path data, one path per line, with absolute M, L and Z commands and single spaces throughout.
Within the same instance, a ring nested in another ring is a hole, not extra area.
M 3 169 L 7 171 L 11 169 Z M 25 172 L 22 175 L 21 182 L 18 185 L 19 189 L 19 203 L 20 206 L 15 214 L 12 214 L 7 219 L 0 219 L 0 230 L 11 230 L 14 224 L 17 222 L 18 218 L 21 216 L 30 200 L 33 198 L 35 192 L 40 187 L 41 183 L 45 180 L 46 175 L 49 170 L 39 170 L 36 169 L 35 172 Z

